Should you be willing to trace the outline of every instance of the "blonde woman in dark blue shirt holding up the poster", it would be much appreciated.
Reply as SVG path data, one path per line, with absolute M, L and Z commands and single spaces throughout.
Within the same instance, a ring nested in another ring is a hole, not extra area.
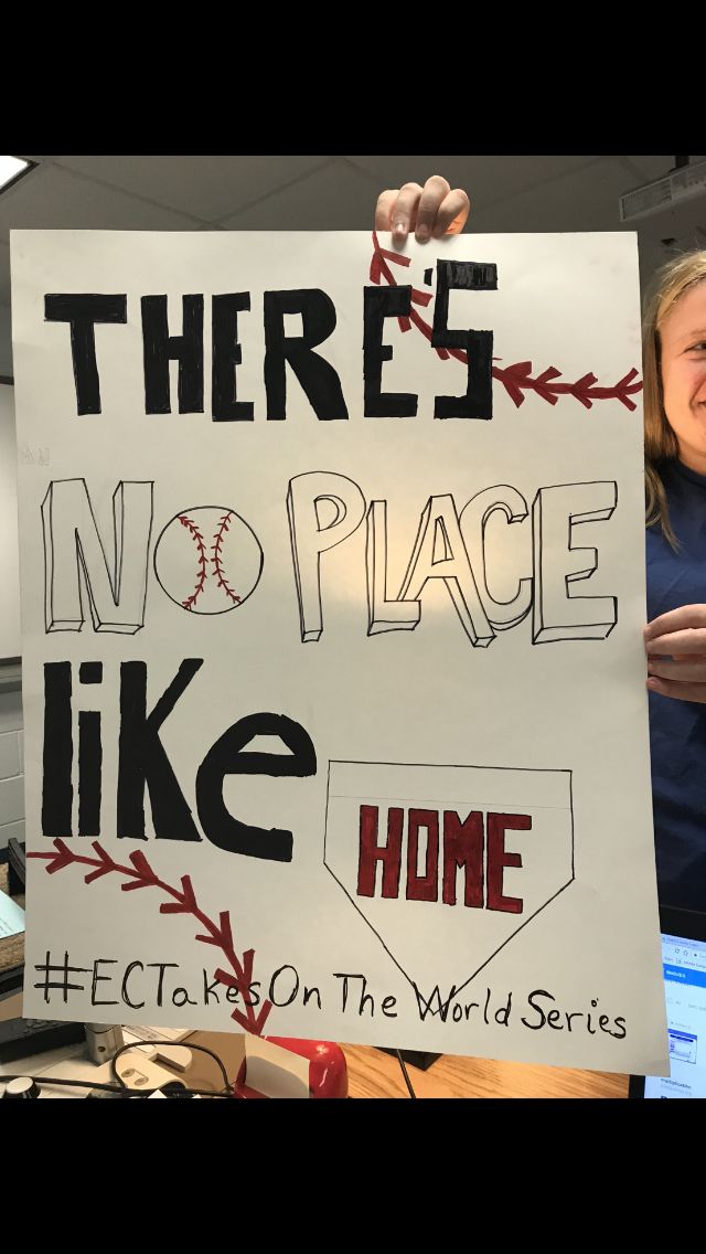
M 469 199 L 435 174 L 382 192 L 375 228 L 404 245 L 463 229 Z M 706 910 L 706 252 L 656 278 L 643 324 L 645 628 L 660 899 Z

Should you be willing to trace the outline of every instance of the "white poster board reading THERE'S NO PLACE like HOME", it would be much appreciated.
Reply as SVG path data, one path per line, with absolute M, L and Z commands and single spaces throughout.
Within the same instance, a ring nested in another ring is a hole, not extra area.
M 13 306 L 26 1013 L 663 1070 L 635 238 L 18 232 Z

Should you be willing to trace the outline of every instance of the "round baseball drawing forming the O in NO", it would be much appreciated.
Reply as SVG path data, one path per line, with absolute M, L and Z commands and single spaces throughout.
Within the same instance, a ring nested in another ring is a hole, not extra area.
M 224 614 L 255 592 L 262 548 L 251 527 L 228 505 L 182 509 L 154 549 L 154 573 L 167 596 L 194 614 Z

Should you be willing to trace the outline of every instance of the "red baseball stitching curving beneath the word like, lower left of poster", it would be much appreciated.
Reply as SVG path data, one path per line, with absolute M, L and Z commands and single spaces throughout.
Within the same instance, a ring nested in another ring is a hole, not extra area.
M 231 914 L 228 910 L 221 910 L 218 923 L 213 923 L 213 920 L 198 908 L 191 877 L 182 875 L 181 890 L 178 888 L 172 888 L 169 884 L 166 884 L 164 880 L 158 878 L 139 849 L 129 855 L 132 867 L 122 867 L 110 858 L 110 854 L 103 849 L 98 840 L 92 841 L 92 848 L 97 854 L 95 858 L 82 858 L 79 854 L 75 854 L 60 836 L 56 836 L 54 840 L 54 848 L 56 849 L 56 853 L 30 853 L 28 854 L 28 858 L 44 859 L 48 864 L 46 872 L 49 875 L 54 875 L 55 872 L 63 870 L 65 867 L 70 867 L 74 863 L 83 863 L 84 867 L 93 867 L 94 869 L 84 877 L 85 884 L 92 884 L 94 879 L 100 879 L 103 875 L 108 875 L 112 872 L 117 872 L 120 875 L 128 875 L 130 882 L 120 884 L 120 889 L 124 893 L 129 893 L 135 888 L 161 888 L 163 893 L 167 893 L 173 898 L 172 902 L 162 902 L 159 905 L 161 914 L 192 914 L 194 919 L 198 919 L 201 925 L 206 929 L 207 935 L 197 933 L 194 940 L 203 940 L 204 944 L 213 944 L 222 949 L 226 959 L 229 962 L 234 972 L 234 974 L 232 974 L 231 972 L 223 971 L 218 967 L 218 969 L 213 973 L 213 978 L 221 984 L 226 984 L 228 988 L 237 988 L 243 998 L 246 1013 L 243 1014 L 241 1011 L 234 1009 L 231 1018 L 233 1018 L 240 1027 L 245 1028 L 246 1032 L 251 1032 L 253 1036 L 262 1036 L 262 1028 L 265 1027 L 270 1011 L 272 1009 L 272 1002 L 265 1001 L 258 1014 L 255 1013 L 252 1002 L 248 1002 L 250 987 L 252 984 L 255 949 L 246 949 L 242 958 L 238 958 L 234 949 L 233 933 L 231 929 Z

